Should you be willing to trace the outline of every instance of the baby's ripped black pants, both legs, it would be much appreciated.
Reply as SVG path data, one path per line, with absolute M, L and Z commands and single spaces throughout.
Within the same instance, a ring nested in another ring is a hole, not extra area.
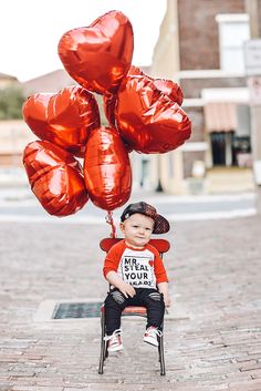
M 108 292 L 105 299 L 106 333 L 111 336 L 121 327 L 121 316 L 126 306 L 143 306 L 147 308 L 146 328 L 154 326 L 160 329 L 164 319 L 165 303 L 163 294 L 157 289 L 136 288 L 136 295 L 126 298 L 118 289 Z

